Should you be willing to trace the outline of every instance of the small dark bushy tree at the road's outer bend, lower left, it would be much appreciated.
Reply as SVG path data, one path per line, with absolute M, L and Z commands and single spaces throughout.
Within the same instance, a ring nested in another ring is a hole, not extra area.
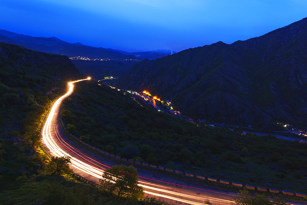
M 69 157 L 51 157 L 51 160 L 45 166 L 46 174 L 50 175 L 64 175 L 71 174 L 72 169 L 69 168 L 71 160 Z

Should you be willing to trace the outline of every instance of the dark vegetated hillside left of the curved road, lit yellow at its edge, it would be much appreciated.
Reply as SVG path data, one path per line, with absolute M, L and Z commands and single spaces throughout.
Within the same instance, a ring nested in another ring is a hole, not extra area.
M 0 204 L 155 204 L 99 191 L 74 174 L 46 175 L 40 129 L 67 82 L 84 76 L 67 56 L 0 42 Z

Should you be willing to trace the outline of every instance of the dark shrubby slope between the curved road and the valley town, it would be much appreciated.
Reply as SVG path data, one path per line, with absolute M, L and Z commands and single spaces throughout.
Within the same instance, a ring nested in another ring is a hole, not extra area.
M 126 158 L 273 188 L 306 191 L 307 145 L 196 126 L 93 83 L 76 87 L 64 122 L 87 143 Z M 73 126 L 72 126 L 73 125 Z

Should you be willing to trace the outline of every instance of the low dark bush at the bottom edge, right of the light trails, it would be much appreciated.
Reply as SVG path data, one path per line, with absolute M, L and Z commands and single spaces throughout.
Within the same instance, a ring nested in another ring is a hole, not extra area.
M 267 197 L 261 195 L 251 196 L 247 189 L 241 190 L 238 195 L 232 197 L 238 205 L 290 205 L 281 199 L 270 201 Z

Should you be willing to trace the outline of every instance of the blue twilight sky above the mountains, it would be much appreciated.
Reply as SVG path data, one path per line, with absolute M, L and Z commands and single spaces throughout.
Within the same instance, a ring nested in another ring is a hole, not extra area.
M 307 17 L 307 0 L 0 0 L 0 29 L 128 52 L 258 37 Z

